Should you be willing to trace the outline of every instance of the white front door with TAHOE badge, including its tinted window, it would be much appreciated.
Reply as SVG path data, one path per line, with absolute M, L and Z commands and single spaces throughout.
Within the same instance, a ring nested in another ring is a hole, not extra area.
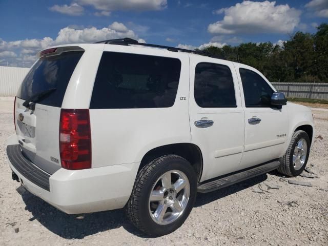
M 288 136 L 288 112 L 271 105 L 274 92 L 257 70 L 235 64 L 245 111 L 245 143 L 240 169 L 249 168 L 283 155 Z

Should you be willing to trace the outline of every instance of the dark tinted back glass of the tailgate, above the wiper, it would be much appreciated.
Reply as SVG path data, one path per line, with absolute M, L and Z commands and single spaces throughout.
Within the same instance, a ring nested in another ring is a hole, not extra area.
M 61 107 L 68 82 L 82 54 L 83 51 L 71 51 L 40 58 L 23 80 L 17 97 L 27 100 L 37 93 L 55 88 L 55 91 L 40 98 L 37 103 Z

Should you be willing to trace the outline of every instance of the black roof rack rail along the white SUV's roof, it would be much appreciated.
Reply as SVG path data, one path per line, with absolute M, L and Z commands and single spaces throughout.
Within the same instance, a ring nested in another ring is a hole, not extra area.
M 222 57 L 212 55 L 210 53 L 200 51 L 200 50 L 187 50 L 187 49 L 176 48 L 176 47 L 165 46 L 165 45 L 154 45 L 154 44 L 139 43 L 137 40 L 129 38 L 129 37 L 117 38 L 117 39 L 108 39 L 108 40 L 95 42 L 94 44 L 141 45 L 141 46 L 146 46 L 146 47 L 167 49 L 167 50 L 172 51 L 172 52 L 183 51 L 183 52 L 187 52 L 187 53 L 193 53 L 193 54 L 197 54 L 197 55 L 204 55 L 204 56 L 209 56 L 209 57 L 213 57 L 213 58 L 223 59 Z

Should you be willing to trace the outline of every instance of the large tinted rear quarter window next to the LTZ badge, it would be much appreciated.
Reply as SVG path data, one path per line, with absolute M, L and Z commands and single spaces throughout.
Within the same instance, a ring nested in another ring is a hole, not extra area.
M 167 108 L 174 104 L 181 62 L 176 58 L 104 52 L 91 109 Z

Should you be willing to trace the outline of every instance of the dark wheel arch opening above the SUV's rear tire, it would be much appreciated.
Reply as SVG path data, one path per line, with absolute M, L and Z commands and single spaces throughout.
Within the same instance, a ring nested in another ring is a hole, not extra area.
M 203 170 L 203 158 L 200 148 L 197 145 L 183 142 L 177 144 L 163 145 L 149 150 L 141 159 L 139 170 L 149 161 L 163 155 L 179 155 L 191 163 L 191 166 L 197 174 L 197 181 L 200 180 Z

